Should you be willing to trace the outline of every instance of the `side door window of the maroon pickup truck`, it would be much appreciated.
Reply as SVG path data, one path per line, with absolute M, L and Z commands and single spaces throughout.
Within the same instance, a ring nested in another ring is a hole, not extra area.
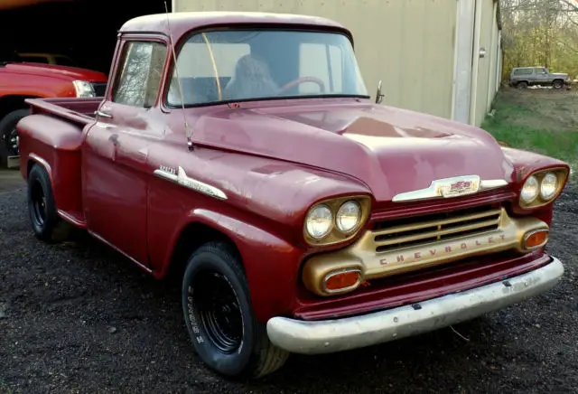
M 166 51 L 161 42 L 126 42 L 112 100 L 128 106 L 152 107 L 159 93 Z

